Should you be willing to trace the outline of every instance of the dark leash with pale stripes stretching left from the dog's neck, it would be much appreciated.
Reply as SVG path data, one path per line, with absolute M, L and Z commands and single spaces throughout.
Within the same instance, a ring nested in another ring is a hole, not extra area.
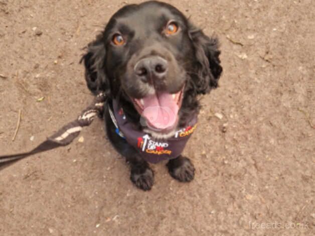
M 92 104 L 89 105 L 86 109 L 84 109 L 78 118 L 62 127 L 59 131 L 57 131 L 54 135 L 47 138 L 46 141 L 38 145 L 36 148 L 29 152 L 12 154 L 12 155 L 0 155 L 0 168 L 7 167 L 9 164 L 13 164 L 14 162 L 26 158 L 28 156 L 42 153 L 48 150 L 52 150 L 58 147 L 67 146 L 72 143 L 72 141 L 78 137 L 81 130 L 85 126 L 91 125 L 95 116 L 102 117 L 104 112 L 104 103 L 106 101 L 106 94 L 101 92 L 99 93 L 93 100 Z

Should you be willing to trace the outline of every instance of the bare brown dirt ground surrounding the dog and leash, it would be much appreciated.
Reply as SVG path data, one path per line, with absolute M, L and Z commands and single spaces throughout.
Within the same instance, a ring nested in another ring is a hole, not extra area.
M 136 2 L 0 0 L 0 154 L 32 149 L 90 103 L 82 48 Z M 185 149 L 194 181 L 162 163 L 138 190 L 95 120 L 83 143 L 0 172 L 0 235 L 314 235 L 314 2 L 167 2 L 222 44 L 220 88 Z

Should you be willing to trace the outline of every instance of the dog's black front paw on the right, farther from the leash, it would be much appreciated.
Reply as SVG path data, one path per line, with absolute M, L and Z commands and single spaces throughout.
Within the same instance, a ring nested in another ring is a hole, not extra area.
M 176 159 L 170 160 L 167 167 L 170 175 L 174 179 L 181 182 L 189 182 L 194 179 L 195 167 L 187 157 L 180 156 Z

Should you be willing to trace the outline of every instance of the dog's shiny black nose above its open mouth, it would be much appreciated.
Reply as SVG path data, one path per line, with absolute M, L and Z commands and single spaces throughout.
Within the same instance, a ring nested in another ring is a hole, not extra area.
M 164 79 L 168 72 L 168 61 L 159 56 L 146 57 L 134 66 L 134 72 L 143 82 Z

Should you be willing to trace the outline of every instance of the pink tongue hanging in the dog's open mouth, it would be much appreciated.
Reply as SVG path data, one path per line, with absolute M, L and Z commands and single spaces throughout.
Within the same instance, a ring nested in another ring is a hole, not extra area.
M 179 106 L 172 94 L 162 92 L 142 99 L 144 103 L 142 116 L 149 123 L 148 125 L 159 130 L 172 128 L 175 125 Z

